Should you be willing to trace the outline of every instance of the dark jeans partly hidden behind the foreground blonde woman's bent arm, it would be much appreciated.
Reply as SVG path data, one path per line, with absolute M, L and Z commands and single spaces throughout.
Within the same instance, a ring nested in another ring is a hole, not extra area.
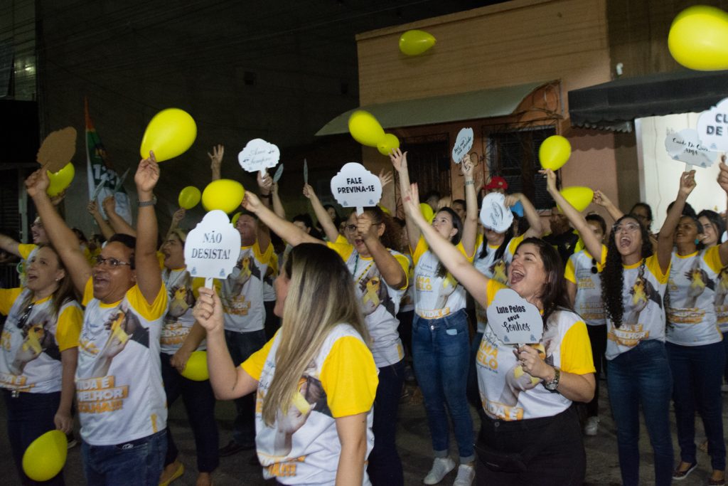
M 230 357 L 236 367 L 266 344 L 264 329 L 253 332 L 225 332 L 225 341 Z M 237 416 L 233 424 L 232 439 L 236 444 L 255 447 L 256 445 L 256 394 L 250 393 L 235 399 Z

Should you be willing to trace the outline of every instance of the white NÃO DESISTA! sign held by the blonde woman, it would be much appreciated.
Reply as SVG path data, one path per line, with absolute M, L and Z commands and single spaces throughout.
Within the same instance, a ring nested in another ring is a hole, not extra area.
M 184 262 L 193 277 L 226 278 L 240 256 L 240 233 L 224 211 L 215 209 L 189 232 Z M 205 283 L 206 287 L 207 285 Z

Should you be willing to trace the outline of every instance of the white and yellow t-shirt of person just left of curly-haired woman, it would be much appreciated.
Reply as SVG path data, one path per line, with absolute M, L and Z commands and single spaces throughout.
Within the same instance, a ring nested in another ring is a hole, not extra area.
M 563 277 L 577 286 L 574 310 L 589 326 L 604 326 L 604 301 L 601 299 L 601 277 L 606 262 L 606 246 L 601 246 L 601 258 L 596 259 L 587 250 L 569 256 Z

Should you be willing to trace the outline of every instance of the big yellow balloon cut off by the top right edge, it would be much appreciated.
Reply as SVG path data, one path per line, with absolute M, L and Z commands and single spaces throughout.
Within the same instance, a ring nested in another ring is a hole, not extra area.
M 686 68 L 728 69 L 728 13 L 705 5 L 684 9 L 670 26 L 668 48 Z

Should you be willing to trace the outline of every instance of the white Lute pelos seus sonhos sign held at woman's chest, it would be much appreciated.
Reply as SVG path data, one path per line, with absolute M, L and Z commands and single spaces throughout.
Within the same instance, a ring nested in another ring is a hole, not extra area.
M 507 345 L 537 344 L 544 333 L 538 308 L 515 290 L 501 289 L 488 305 L 488 326 Z

